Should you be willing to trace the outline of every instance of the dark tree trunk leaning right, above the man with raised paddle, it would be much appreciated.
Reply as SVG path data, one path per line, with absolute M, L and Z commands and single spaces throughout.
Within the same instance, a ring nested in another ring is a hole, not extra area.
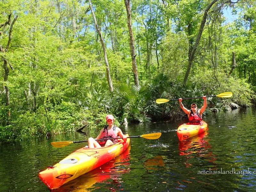
M 199 28 L 199 32 L 197 34 L 197 37 L 196 37 L 196 43 L 194 44 L 192 50 L 191 50 L 191 53 L 189 54 L 189 57 L 188 57 L 188 68 L 187 68 L 187 71 L 186 71 L 186 74 L 184 76 L 184 80 L 183 80 L 183 84 L 186 84 L 187 83 L 187 80 L 188 80 L 188 76 L 189 76 L 189 73 L 190 73 L 190 69 L 193 65 L 193 60 L 195 58 L 195 53 L 196 53 L 196 49 L 197 49 L 197 46 L 199 44 L 199 41 L 201 39 L 201 36 L 202 36 L 202 33 L 203 33 L 203 30 L 204 30 L 204 25 L 205 25 L 205 22 L 206 22 L 206 17 L 208 15 L 208 11 L 211 9 L 212 5 L 215 4 L 218 0 L 213 0 L 208 6 L 207 8 L 205 9 L 204 11 L 204 16 L 202 18 L 202 21 L 201 21 L 201 25 L 200 25 L 200 28 Z

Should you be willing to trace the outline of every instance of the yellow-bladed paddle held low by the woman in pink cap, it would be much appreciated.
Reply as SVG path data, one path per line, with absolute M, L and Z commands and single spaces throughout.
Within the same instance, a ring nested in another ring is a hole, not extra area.
M 136 138 L 136 137 L 142 137 L 145 139 L 158 139 L 161 136 L 162 133 L 149 133 L 149 134 L 144 134 L 144 135 L 138 135 L 138 136 L 130 136 L 127 138 Z M 109 139 L 109 138 L 108 138 Z M 108 140 L 108 139 L 95 139 L 95 141 L 101 141 L 101 140 Z M 111 138 L 112 139 L 123 139 L 123 138 Z M 71 143 L 82 143 L 82 142 L 87 142 L 88 140 L 84 140 L 84 141 L 56 141 L 56 142 L 51 142 L 53 147 L 56 148 L 61 148 L 61 147 L 65 147 Z

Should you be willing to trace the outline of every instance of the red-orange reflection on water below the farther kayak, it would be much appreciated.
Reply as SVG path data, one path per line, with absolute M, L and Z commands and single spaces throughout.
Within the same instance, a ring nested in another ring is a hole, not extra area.
M 216 157 L 209 151 L 211 145 L 209 144 L 208 131 L 203 132 L 195 137 L 188 140 L 179 141 L 179 155 L 186 156 L 185 165 L 190 167 L 190 159 L 194 157 L 203 157 L 208 162 L 215 164 Z

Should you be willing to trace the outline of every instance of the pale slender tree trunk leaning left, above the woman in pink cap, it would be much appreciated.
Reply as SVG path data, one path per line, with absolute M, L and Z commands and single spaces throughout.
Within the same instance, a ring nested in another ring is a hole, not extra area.
M 106 71 L 107 71 L 109 91 L 113 92 L 114 88 L 113 88 L 113 84 L 112 84 L 112 80 L 111 80 L 111 76 L 110 76 L 107 51 L 106 51 L 106 47 L 105 47 L 105 44 L 104 44 L 104 41 L 103 41 L 103 38 L 102 38 L 102 35 L 101 35 L 101 32 L 100 32 L 100 29 L 99 29 L 99 27 L 97 25 L 97 20 L 96 20 L 95 14 L 94 14 L 93 9 L 92 9 L 91 0 L 89 0 L 89 5 L 90 5 L 91 12 L 92 12 L 92 17 L 93 17 L 93 20 L 94 20 L 95 28 L 96 28 L 96 30 L 98 32 L 99 37 L 100 37 L 100 43 L 101 43 L 103 54 L 104 54 L 104 60 L 105 60 L 105 64 L 106 64 Z

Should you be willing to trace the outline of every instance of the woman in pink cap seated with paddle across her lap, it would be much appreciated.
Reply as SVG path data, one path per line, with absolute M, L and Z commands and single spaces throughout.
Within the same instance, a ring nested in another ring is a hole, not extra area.
M 104 139 L 104 138 L 117 138 L 118 136 L 123 138 L 124 141 L 126 141 L 127 136 L 123 134 L 120 128 L 116 127 L 114 125 L 115 118 L 112 115 L 106 116 L 107 126 L 105 126 L 103 129 L 100 130 L 100 134 L 96 139 Z M 100 142 L 97 142 L 92 137 L 88 139 L 88 147 L 89 148 L 99 148 L 102 146 L 110 146 L 114 143 L 117 143 L 118 140 L 102 140 Z

